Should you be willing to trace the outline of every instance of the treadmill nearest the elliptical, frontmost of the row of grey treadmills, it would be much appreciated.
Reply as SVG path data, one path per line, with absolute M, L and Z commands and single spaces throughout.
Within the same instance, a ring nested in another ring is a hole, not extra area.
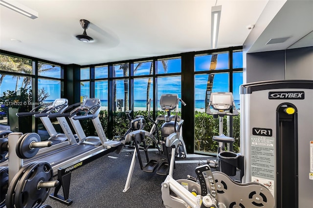
M 65 117 L 69 114 L 69 118 L 75 121 L 73 124 L 76 125 L 75 128 L 77 129 L 82 129 L 82 127 L 80 123 L 76 121 L 91 119 L 99 137 L 86 137 L 84 140 L 76 144 L 64 146 L 60 149 L 46 152 L 45 154 L 37 154 L 33 158 L 24 159 L 23 164 L 27 164 L 32 161 L 46 161 L 51 165 L 53 174 L 55 175 L 59 167 L 65 166 L 77 160 L 83 160 L 85 157 L 93 154 L 104 154 L 105 152 L 110 153 L 114 151 L 117 146 L 121 145 L 121 143 L 107 139 L 98 117 L 100 109 L 100 100 L 96 98 L 89 98 L 86 99 L 83 104 L 73 109 L 70 113 L 49 114 L 48 118 Z M 32 135 L 36 136 L 36 134 Z M 15 148 L 16 147 L 9 146 L 9 151 L 15 151 Z

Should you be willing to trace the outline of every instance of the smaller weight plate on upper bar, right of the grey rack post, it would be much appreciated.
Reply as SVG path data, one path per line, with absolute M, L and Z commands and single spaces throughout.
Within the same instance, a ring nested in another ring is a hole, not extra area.
M 25 134 L 19 139 L 18 145 L 16 146 L 17 155 L 21 156 L 20 158 L 22 159 L 34 157 L 39 151 L 39 148 L 31 148 L 30 144 L 32 142 L 40 141 L 41 141 L 40 136 L 37 133 Z

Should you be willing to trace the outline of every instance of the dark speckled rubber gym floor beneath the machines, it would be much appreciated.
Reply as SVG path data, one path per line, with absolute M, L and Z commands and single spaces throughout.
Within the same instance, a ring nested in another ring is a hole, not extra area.
M 133 148 L 124 148 L 120 154 L 109 153 L 74 170 L 69 191 L 69 198 L 73 200 L 70 206 L 49 197 L 44 204 L 52 208 L 164 208 L 161 183 L 166 176 L 142 171 L 138 158 L 130 189 L 123 193 L 133 153 Z M 141 153 L 141 157 L 145 162 L 144 153 Z M 159 164 L 162 162 L 157 151 L 149 151 L 149 159 L 156 159 Z M 173 178 L 186 178 L 187 175 L 196 177 L 195 168 L 199 164 L 206 164 L 207 159 L 212 157 L 190 154 L 187 158 L 178 158 Z M 51 188 L 50 193 L 53 190 Z M 61 193 L 62 189 L 59 191 Z

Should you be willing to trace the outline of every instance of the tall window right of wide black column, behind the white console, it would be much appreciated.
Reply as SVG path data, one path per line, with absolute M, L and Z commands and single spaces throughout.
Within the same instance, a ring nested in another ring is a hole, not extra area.
M 232 58 L 232 60 L 231 60 Z M 219 119 L 206 113 L 212 92 L 232 92 L 239 108 L 239 85 L 242 84 L 242 51 L 221 51 L 197 54 L 194 58 L 195 79 L 195 144 L 197 153 L 215 154 L 218 143 L 213 136 L 220 134 Z M 239 118 L 240 116 L 238 116 Z M 223 118 L 223 133 L 235 137 L 234 151 L 239 151 L 239 119 Z

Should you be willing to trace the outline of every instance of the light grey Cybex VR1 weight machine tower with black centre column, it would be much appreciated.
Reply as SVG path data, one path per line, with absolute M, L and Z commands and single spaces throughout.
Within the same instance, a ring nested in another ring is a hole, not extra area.
M 268 187 L 276 208 L 313 206 L 313 81 L 241 86 L 243 182 Z

